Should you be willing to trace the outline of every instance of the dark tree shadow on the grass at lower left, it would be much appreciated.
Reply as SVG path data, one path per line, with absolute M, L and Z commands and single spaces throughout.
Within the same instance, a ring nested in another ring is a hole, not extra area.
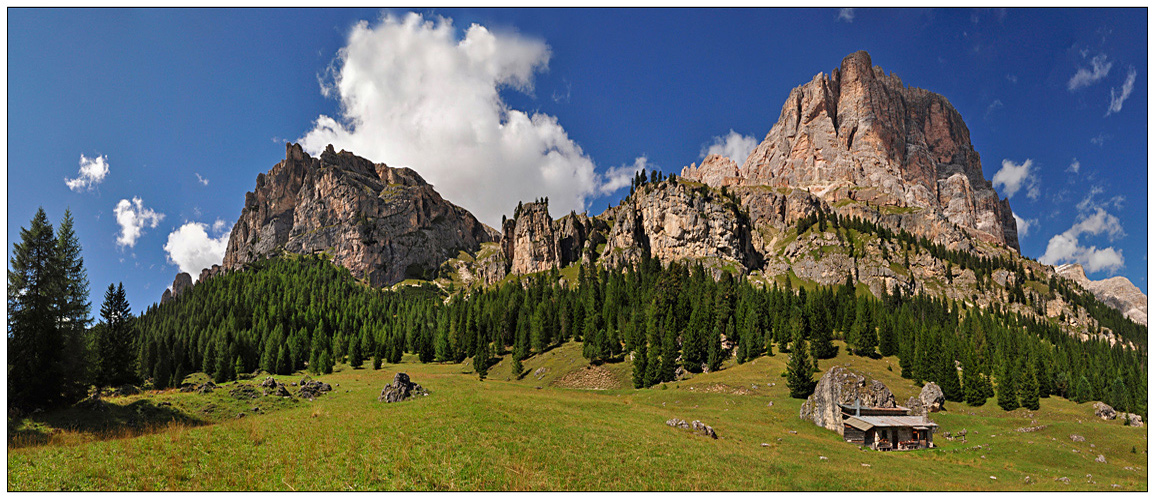
M 75 405 L 8 422 L 8 448 L 66 442 L 68 433 L 83 440 L 111 440 L 156 433 L 170 427 L 191 427 L 208 422 L 141 399 L 121 405 L 102 399 L 85 399 Z

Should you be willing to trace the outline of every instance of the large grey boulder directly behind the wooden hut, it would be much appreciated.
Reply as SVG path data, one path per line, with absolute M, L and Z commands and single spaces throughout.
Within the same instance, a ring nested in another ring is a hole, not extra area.
M 842 409 L 839 404 L 860 403 L 863 407 L 893 408 L 894 394 L 881 381 L 842 366 L 830 367 L 818 380 L 814 393 L 803 402 L 798 417 L 842 434 Z

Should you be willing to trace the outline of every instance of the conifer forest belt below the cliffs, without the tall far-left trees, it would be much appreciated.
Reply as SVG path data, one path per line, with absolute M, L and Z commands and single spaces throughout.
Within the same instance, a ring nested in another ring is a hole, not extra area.
M 875 299 L 849 280 L 765 290 L 654 259 L 617 270 L 583 266 L 576 275 L 571 285 L 558 285 L 553 270 L 442 301 L 432 285 L 366 288 L 320 256 L 266 260 L 149 307 L 137 321 L 140 377 L 170 386 L 195 371 L 228 380 L 256 370 L 326 372 L 335 363 L 375 368 L 403 352 L 420 362 L 472 357 L 484 373 L 495 356 L 512 355 L 516 370 L 574 341 L 591 363 L 632 363 L 639 388 L 672 381 L 679 370 L 717 370 L 731 352 L 738 363 L 790 355 L 806 364 L 788 377 L 805 397 L 813 359 L 834 357 L 832 341 L 843 340 L 855 355 L 897 357 L 904 378 L 934 381 L 954 402 L 983 404 L 1006 387 L 999 403 L 1008 410 L 1056 395 L 1146 414 L 1143 352 L 1080 342 L 1018 314 L 901 291 Z

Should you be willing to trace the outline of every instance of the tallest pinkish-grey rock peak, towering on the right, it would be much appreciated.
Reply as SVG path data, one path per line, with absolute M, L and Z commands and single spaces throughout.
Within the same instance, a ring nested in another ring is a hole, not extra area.
M 959 112 L 945 97 L 873 67 L 866 52 L 793 89 L 740 167 L 707 158 L 683 176 L 711 186 L 804 188 L 832 203 L 849 198 L 926 209 L 1019 250 L 1009 203 L 983 177 Z

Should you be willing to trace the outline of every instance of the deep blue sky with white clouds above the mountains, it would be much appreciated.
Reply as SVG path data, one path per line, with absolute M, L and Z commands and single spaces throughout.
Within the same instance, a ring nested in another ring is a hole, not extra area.
M 417 14 L 9 9 L 8 255 L 70 207 L 94 312 L 121 281 L 142 311 L 218 258 L 285 141 L 413 166 L 491 225 L 539 195 L 598 214 L 866 50 L 959 110 L 1023 254 L 1147 290 L 1143 9 Z

